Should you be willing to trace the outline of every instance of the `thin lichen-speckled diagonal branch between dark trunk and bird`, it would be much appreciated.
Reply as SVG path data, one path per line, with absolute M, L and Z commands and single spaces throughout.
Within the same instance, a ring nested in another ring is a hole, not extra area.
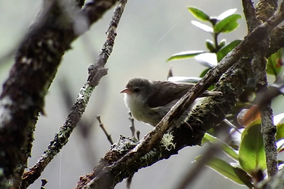
M 29 171 L 24 173 L 23 181 L 21 188 L 27 188 L 32 184 L 36 179 L 39 178 L 42 171 L 48 165 L 48 163 L 58 154 L 60 149 L 68 142 L 68 138 L 72 133 L 73 129 L 76 127 L 78 121 L 80 120 L 91 93 L 93 92 L 95 86 L 99 84 L 100 79 L 107 74 L 107 68 L 105 64 L 112 52 L 114 45 L 114 39 L 116 37 L 116 27 L 120 21 L 126 0 L 118 1 L 116 5 L 112 20 L 109 24 L 108 30 L 106 32 L 106 41 L 103 44 L 95 63 L 90 64 L 88 67 L 89 76 L 87 82 L 81 88 L 77 100 L 71 108 L 70 113 L 68 114 L 64 124 L 60 127 L 59 132 L 55 134 L 55 139 L 50 142 L 48 148 L 43 152 L 41 158 L 37 163 L 30 168 Z

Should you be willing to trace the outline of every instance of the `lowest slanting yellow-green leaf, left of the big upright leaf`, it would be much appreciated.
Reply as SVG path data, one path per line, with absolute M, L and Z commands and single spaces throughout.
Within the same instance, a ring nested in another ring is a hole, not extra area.
M 195 158 L 195 161 L 199 162 L 201 158 L 202 156 L 197 156 Z M 236 175 L 234 171 L 234 167 L 230 165 L 229 163 L 225 162 L 224 160 L 221 160 L 219 158 L 211 158 L 209 162 L 207 162 L 205 165 L 210 167 L 214 171 L 220 173 L 224 177 L 232 180 L 233 182 L 236 182 L 241 185 L 245 185 Z

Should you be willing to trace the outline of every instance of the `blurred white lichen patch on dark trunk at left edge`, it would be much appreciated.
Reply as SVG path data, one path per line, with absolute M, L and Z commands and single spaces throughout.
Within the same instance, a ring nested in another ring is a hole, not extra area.
M 11 110 L 7 107 L 12 106 L 13 101 L 10 97 L 5 96 L 0 100 L 0 128 L 4 123 L 10 122 L 12 119 Z

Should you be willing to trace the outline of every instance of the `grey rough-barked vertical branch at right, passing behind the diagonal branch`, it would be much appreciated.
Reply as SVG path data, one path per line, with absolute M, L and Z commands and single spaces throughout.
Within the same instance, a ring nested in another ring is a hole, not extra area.
M 270 18 L 277 9 L 277 1 L 262 0 L 257 4 L 256 11 L 251 0 L 243 0 L 244 14 L 247 20 L 248 31 L 252 32 L 261 22 L 265 22 Z M 281 7 L 283 3 L 281 4 Z M 267 90 L 266 64 L 265 54 L 267 53 L 270 39 L 267 34 L 259 46 L 253 48 L 252 70 L 256 80 L 257 96 L 260 91 Z M 273 124 L 273 112 L 271 103 L 262 108 L 261 114 L 261 133 L 264 139 L 264 150 L 266 155 L 266 165 L 268 176 L 272 176 L 278 171 L 277 165 L 277 147 L 276 147 L 276 126 Z

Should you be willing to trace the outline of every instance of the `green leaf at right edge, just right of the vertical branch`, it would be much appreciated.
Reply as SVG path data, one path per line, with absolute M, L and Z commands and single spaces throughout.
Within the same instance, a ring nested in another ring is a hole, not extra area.
M 277 76 L 283 66 L 283 47 L 272 54 L 267 61 L 266 73 Z

